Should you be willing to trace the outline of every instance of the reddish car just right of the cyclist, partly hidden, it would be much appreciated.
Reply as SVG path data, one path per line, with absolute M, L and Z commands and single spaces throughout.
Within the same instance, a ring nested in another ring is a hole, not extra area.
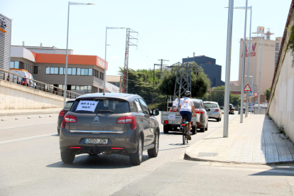
M 195 112 L 197 114 L 200 114 L 200 122 L 198 122 L 198 128 L 200 128 L 200 131 L 204 132 L 208 129 L 208 114 L 207 111 L 210 111 L 210 109 L 205 107 L 205 104 L 203 103 L 202 99 L 192 99 L 194 102 Z

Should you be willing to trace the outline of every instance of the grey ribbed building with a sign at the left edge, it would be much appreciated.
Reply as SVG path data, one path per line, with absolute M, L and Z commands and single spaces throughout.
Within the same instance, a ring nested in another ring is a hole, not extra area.
M 0 69 L 9 71 L 11 19 L 0 13 Z

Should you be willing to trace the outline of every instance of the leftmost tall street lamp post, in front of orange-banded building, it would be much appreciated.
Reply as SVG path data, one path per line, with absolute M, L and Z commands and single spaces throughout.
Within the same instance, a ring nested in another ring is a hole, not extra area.
M 65 105 L 65 99 L 67 94 L 67 62 L 68 62 L 68 32 L 70 26 L 70 6 L 89 6 L 94 4 L 85 4 L 85 3 L 72 3 L 68 1 L 68 11 L 67 11 L 67 35 L 66 35 L 66 55 L 65 55 L 65 87 L 64 87 L 64 94 L 63 94 L 63 105 Z

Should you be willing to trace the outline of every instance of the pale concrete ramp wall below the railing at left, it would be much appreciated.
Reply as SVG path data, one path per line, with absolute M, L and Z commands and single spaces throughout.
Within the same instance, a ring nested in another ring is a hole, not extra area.
M 46 109 L 63 107 L 63 97 L 0 80 L 0 109 Z

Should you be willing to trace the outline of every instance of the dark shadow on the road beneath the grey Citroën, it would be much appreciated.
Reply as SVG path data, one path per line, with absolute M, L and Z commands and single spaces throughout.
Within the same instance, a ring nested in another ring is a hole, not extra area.
M 143 162 L 149 160 L 149 156 L 143 155 Z M 141 163 L 141 164 L 142 164 Z M 131 165 L 129 156 L 111 155 L 97 156 L 80 155 L 76 156 L 72 164 L 65 164 L 62 161 L 52 163 L 46 166 L 47 168 L 80 168 L 80 169 L 118 169 L 118 168 L 131 168 L 136 167 Z

